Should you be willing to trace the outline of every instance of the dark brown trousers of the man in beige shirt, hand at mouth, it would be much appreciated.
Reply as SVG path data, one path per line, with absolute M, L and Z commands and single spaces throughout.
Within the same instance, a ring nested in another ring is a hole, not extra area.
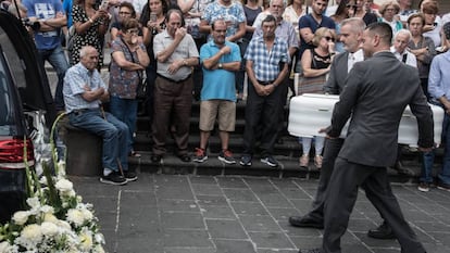
M 192 105 L 192 78 L 175 83 L 157 77 L 154 81 L 153 154 L 165 154 L 168 127 L 178 148 L 178 155 L 188 151 L 189 117 Z

